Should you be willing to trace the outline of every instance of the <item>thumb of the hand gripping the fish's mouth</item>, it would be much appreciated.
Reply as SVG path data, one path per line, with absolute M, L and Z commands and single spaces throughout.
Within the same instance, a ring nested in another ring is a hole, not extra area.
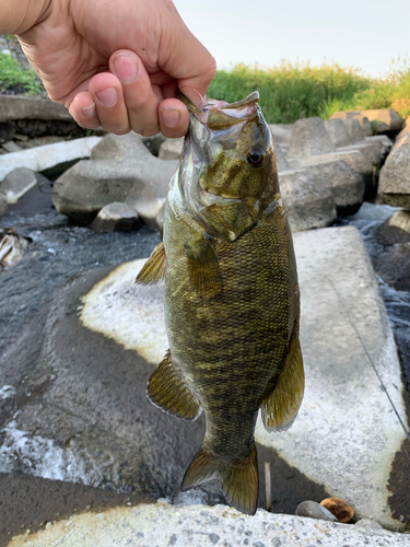
M 215 75 L 216 62 L 173 8 L 174 16 L 167 19 L 157 62 L 164 72 L 177 80 L 184 95 L 200 106 Z

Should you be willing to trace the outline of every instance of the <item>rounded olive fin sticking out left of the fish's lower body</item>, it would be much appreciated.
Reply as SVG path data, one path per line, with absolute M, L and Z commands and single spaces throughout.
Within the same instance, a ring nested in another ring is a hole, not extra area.
M 175 369 L 169 350 L 151 374 L 147 395 L 164 412 L 185 420 L 196 420 L 202 410 L 199 401 L 192 396 Z

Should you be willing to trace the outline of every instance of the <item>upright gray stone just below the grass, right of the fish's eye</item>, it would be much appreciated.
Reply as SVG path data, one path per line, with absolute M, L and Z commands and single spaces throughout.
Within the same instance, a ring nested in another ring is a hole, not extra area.
M 335 150 L 335 144 L 320 118 L 298 119 L 293 124 L 288 160 L 323 155 Z

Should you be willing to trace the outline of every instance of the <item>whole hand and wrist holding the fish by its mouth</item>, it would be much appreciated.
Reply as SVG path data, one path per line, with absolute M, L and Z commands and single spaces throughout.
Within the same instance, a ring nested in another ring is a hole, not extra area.
M 200 105 L 211 54 L 171 0 L 2 0 L 0 32 L 16 34 L 50 98 L 85 128 L 184 136 L 183 89 Z

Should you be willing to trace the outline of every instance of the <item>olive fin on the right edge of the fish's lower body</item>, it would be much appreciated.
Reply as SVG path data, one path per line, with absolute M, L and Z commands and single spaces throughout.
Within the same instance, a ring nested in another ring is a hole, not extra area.
M 289 353 L 273 391 L 262 401 L 262 421 L 267 431 L 285 431 L 294 422 L 305 388 L 305 374 L 298 326 L 295 322 Z

